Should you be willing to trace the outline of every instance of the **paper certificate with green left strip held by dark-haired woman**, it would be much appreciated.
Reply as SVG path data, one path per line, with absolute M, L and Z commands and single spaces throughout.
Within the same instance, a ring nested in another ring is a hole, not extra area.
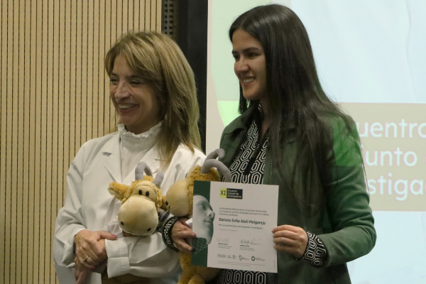
M 195 180 L 192 264 L 277 273 L 278 185 Z

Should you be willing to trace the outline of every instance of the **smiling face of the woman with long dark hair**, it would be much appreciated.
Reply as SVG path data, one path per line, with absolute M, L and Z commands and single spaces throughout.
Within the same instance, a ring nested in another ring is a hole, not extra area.
M 248 100 L 266 103 L 266 58 L 261 43 L 249 33 L 237 29 L 232 35 L 234 71 L 243 96 Z

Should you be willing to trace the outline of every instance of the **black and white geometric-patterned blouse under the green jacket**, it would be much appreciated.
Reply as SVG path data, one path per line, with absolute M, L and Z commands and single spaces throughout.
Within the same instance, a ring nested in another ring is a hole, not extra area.
M 266 146 L 268 145 L 268 133 L 259 141 L 259 129 L 261 129 L 261 106 L 258 116 L 253 119 L 246 140 L 242 144 L 239 153 L 231 163 L 232 182 L 262 184 L 265 170 Z M 310 232 L 307 232 L 308 245 L 304 256 L 295 261 L 307 261 L 313 266 L 321 266 L 327 251 L 321 240 Z M 238 271 L 222 269 L 215 281 L 216 284 L 266 284 L 266 273 L 256 271 Z

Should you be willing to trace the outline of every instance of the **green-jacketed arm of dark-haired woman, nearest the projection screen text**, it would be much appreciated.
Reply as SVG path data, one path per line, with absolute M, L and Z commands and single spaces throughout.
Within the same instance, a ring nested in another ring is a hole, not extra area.
M 327 249 L 325 266 L 353 261 L 376 244 L 359 136 L 354 121 L 350 119 L 349 122 L 351 132 L 342 120 L 334 126 L 332 180 L 327 188 L 327 212 L 333 233 L 318 235 Z

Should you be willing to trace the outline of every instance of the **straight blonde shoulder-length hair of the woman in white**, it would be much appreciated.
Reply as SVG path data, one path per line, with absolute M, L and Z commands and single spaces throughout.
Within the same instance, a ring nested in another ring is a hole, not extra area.
M 126 58 L 130 69 L 153 88 L 160 102 L 163 124 L 158 146 L 162 168 L 170 164 L 180 143 L 192 153 L 200 148 L 194 72 L 175 41 L 153 31 L 122 35 L 105 57 L 109 76 L 118 55 Z

